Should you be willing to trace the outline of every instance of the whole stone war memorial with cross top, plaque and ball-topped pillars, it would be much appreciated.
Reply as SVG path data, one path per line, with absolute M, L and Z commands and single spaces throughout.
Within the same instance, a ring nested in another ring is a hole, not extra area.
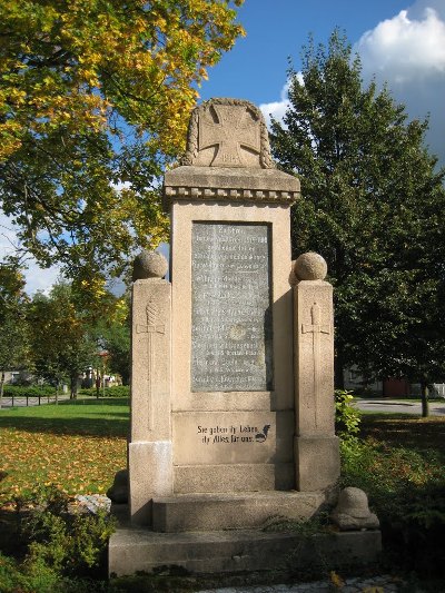
M 164 197 L 171 280 L 159 256 L 135 267 L 132 528 L 111 538 L 110 572 L 264 569 L 293 540 L 261 525 L 313 516 L 339 475 L 326 264 L 293 268 L 299 181 L 274 167 L 247 101 L 194 110 Z

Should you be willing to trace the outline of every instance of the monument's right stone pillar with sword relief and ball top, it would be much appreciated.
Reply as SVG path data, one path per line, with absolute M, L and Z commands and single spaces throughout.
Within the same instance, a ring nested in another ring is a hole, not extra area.
M 327 266 L 309 253 L 295 263 L 294 287 L 296 488 L 316 491 L 339 476 L 335 436 L 333 287 Z

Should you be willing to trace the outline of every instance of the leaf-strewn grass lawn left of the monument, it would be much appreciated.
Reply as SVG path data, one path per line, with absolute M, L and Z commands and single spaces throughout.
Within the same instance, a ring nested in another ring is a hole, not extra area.
M 0 505 L 42 484 L 105 493 L 126 467 L 128 398 L 82 399 L 0 413 Z

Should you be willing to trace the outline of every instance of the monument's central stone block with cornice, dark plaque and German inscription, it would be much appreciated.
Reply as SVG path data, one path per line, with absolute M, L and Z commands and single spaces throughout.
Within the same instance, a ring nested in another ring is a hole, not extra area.
M 288 277 L 298 187 L 276 170 L 166 174 L 180 328 L 172 336 L 177 494 L 294 487 Z

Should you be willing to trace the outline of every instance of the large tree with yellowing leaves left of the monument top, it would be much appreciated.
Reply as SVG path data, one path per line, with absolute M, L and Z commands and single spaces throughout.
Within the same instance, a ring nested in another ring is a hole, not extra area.
M 42 265 L 118 273 L 166 237 L 157 179 L 241 3 L 0 3 L 0 202 Z

